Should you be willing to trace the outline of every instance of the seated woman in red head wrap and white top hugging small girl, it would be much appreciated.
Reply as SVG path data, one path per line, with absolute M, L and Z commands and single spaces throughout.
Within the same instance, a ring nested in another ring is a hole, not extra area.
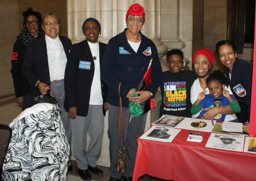
M 212 55 L 209 49 L 199 49 L 196 51 L 193 57 L 193 64 L 195 67 L 196 74 L 198 79 L 195 80 L 194 84 L 191 87 L 191 104 L 194 105 L 198 98 L 198 94 L 203 92 L 206 89 L 205 94 L 209 94 L 209 90 L 207 88 L 206 80 L 210 75 L 210 69 L 212 64 L 214 63 L 215 58 Z M 228 90 L 230 95 L 233 95 L 232 91 L 229 87 L 225 87 Z M 225 121 L 237 121 L 237 116 L 231 110 L 230 106 L 223 107 L 214 107 L 214 108 L 206 108 L 204 109 L 207 112 L 201 117 L 201 119 L 214 119 L 218 114 L 226 114 Z M 199 116 L 200 113 L 196 115 L 192 115 L 193 118 Z

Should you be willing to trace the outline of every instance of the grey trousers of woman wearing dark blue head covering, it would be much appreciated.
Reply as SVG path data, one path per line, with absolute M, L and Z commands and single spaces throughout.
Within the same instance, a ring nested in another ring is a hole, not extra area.
M 104 132 L 102 105 L 89 105 L 86 117 L 77 116 L 71 120 L 74 157 L 77 167 L 87 170 L 88 165 L 95 167 L 101 153 Z M 87 133 L 90 143 L 87 150 Z

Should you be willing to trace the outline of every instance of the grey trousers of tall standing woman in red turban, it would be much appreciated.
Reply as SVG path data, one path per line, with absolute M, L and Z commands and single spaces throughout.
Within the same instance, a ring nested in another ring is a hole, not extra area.
M 118 107 L 109 104 L 109 130 L 108 135 L 110 139 L 110 176 L 114 178 L 120 178 L 124 176 L 133 176 L 133 170 L 135 165 L 136 153 L 137 153 L 137 139 L 144 133 L 146 125 L 147 113 L 132 118 L 129 108 L 123 108 L 123 124 L 124 124 L 124 145 L 125 145 L 125 161 L 126 170 L 122 173 L 117 171 L 118 152 L 119 152 L 119 111 Z M 122 148 L 122 133 L 121 133 L 121 148 Z

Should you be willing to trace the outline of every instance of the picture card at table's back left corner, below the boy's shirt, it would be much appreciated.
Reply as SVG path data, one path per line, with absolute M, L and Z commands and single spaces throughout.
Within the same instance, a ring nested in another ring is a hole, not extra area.
M 160 119 L 153 122 L 152 125 L 174 127 L 179 124 L 183 119 L 184 117 L 163 115 Z

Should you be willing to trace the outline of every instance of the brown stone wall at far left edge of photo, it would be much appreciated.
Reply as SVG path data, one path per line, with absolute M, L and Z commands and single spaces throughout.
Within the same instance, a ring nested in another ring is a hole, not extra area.
M 0 0 L 0 96 L 14 93 L 10 70 L 18 19 L 18 0 Z

